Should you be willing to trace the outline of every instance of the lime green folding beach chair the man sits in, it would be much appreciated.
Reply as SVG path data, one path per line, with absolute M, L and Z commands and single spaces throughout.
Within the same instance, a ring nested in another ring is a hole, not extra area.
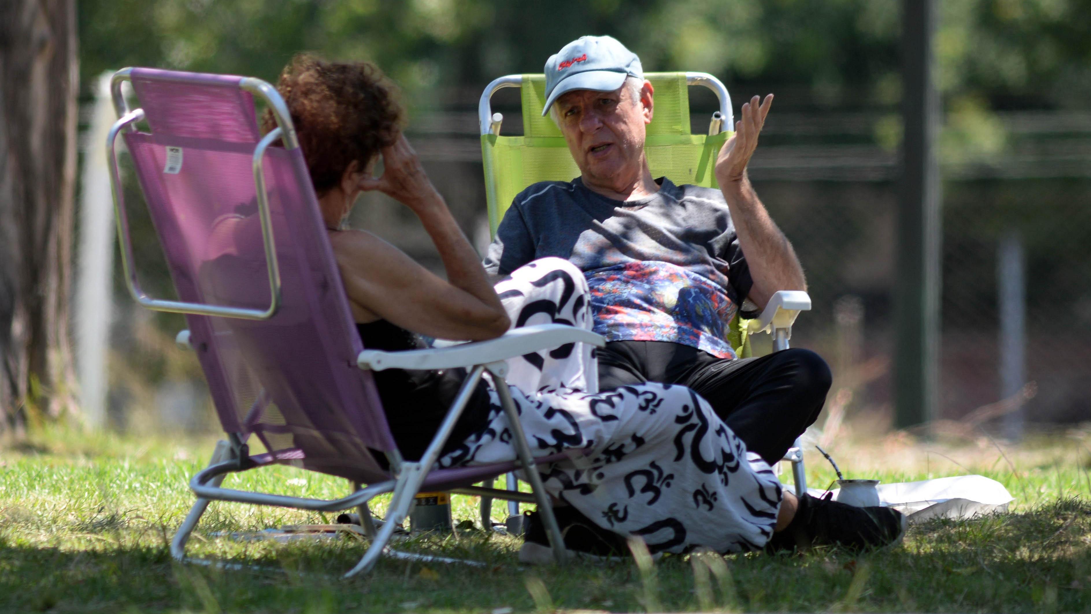
M 666 176 L 675 184 L 690 183 L 719 188 L 714 168 L 723 143 L 733 134 L 734 116 L 731 96 L 723 83 L 703 72 L 645 73 L 656 94 L 656 112 L 647 128 L 645 153 L 652 177 Z M 690 132 L 691 85 L 711 89 L 720 103 L 712 113 L 707 134 Z M 491 99 L 504 87 L 519 87 L 523 100 L 523 136 L 504 136 L 504 118 L 492 112 Z M 481 130 L 481 158 L 484 164 L 485 197 L 489 204 L 489 231 L 495 237 L 504 212 L 515 195 L 539 181 L 572 181 L 579 169 L 568 153 L 561 130 L 551 118 L 542 117 L 546 105 L 546 75 L 513 74 L 490 83 L 478 104 Z M 774 351 L 788 348 L 791 327 L 800 311 L 811 309 L 806 292 L 781 291 L 756 320 L 735 316 L 730 324 L 728 340 L 740 358 L 751 356 L 748 335 L 769 330 L 774 335 Z M 806 492 L 803 453 L 800 442 L 788 452 L 784 460 L 792 462 L 796 492 Z M 508 474 L 509 489 L 515 487 L 514 473 Z M 518 516 L 518 503 L 508 503 L 509 513 Z M 481 522 L 490 526 L 491 501 L 481 501 Z

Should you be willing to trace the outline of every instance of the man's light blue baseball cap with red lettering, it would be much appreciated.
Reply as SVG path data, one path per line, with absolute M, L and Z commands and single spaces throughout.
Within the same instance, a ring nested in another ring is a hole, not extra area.
M 644 79 L 640 58 L 612 36 L 580 36 L 550 56 L 546 62 L 546 107 L 573 89 L 613 92 L 626 76 Z

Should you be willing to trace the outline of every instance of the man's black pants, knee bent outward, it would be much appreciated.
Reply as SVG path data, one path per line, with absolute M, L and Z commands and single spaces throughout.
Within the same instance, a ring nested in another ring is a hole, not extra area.
M 643 382 L 686 386 L 770 465 L 818 418 L 831 377 L 822 357 L 796 348 L 724 360 L 669 341 L 610 341 L 598 358 L 599 389 Z

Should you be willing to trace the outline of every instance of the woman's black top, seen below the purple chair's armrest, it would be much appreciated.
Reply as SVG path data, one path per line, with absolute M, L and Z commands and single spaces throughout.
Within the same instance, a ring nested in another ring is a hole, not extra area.
M 385 320 L 357 324 L 363 347 L 372 350 L 416 350 L 424 348 L 417 335 Z M 452 401 L 466 380 L 465 369 L 418 371 L 385 369 L 372 373 L 386 422 L 407 460 L 418 460 L 440 429 Z M 489 421 L 489 386 L 479 382 L 455 430 L 443 447 L 446 454 Z

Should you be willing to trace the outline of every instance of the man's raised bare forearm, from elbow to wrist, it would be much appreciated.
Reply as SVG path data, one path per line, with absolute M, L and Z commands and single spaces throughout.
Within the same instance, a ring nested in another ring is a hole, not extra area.
M 751 278 L 750 299 L 765 308 L 778 290 L 806 290 L 803 267 L 792 244 L 765 210 L 757 192 L 744 174 L 738 181 L 721 185 L 739 234 L 739 246 L 746 256 Z

